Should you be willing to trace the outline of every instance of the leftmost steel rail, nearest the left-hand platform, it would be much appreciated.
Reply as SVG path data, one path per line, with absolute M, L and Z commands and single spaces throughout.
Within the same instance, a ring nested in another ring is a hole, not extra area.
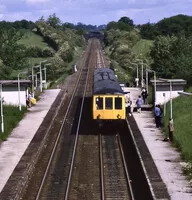
M 84 58 L 83 64 L 82 64 L 81 66 L 84 65 L 86 59 L 87 59 L 87 58 Z M 48 161 L 48 165 L 47 165 L 47 167 L 46 167 L 46 170 L 45 170 L 44 176 L 43 176 L 43 178 L 42 178 L 42 181 L 41 181 L 41 184 L 40 184 L 40 187 L 39 187 L 39 190 L 38 190 L 38 193 L 37 193 L 37 195 L 36 195 L 35 200 L 38 200 L 38 199 L 39 199 L 40 194 L 41 194 L 41 192 L 42 192 L 42 189 L 43 189 L 43 186 L 44 186 L 44 183 L 45 183 L 45 180 L 46 180 L 46 177 L 47 177 L 47 174 L 48 174 L 50 165 L 51 165 L 51 163 L 52 163 L 52 160 L 53 160 L 53 157 L 54 157 L 54 154 L 55 154 L 55 151 L 56 151 L 56 148 L 57 148 L 57 145 L 58 145 L 58 142 L 59 142 L 61 133 L 62 133 L 63 126 L 64 126 L 64 124 L 65 124 L 67 115 L 68 115 L 69 110 L 70 110 L 70 108 L 71 108 L 71 104 L 72 104 L 73 99 L 74 99 L 74 97 L 75 97 L 75 93 L 76 93 L 76 91 L 77 91 L 77 87 L 78 87 L 78 84 L 79 84 L 79 81 L 80 81 L 82 72 L 83 72 L 83 67 L 81 67 L 81 71 L 80 71 L 79 77 L 78 77 L 78 79 L 77 79 L 75 88 L 74 88 L 74 90 L 73 90 L 73 93 L 72 93 L 72 96 L 71 96 L 69 105 L 68 105 L 68 107 L 67 107 L 67 111 L 66 111 L 65 116 L 64 116 L 64 118 L 63 118 L 63 121 L 62 121 L 60 130 L 59 130 L 59 133 L 58 133 L 58 135 L 57 135 L 57 138 L 56 138 L 56 141 L 55 141 L 53 150 L 52 150 L 52 152 L 51 152 L 51 155 L 50 155 L 50 158 L 49 158 L 49 161 Z

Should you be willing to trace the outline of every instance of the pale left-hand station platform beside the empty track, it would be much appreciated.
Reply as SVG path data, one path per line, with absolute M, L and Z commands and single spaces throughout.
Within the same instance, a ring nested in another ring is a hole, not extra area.
M 12 131 L 6 141 L 0 144 L 0 192 L 43 122 L 60 89 L 45 90 L 35 106 Z M 19 111 L 18 111 L 19 112 Z

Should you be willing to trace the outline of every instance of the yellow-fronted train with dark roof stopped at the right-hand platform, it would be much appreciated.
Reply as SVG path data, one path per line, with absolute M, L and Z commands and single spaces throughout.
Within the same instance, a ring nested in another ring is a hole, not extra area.
M 94 72 L 93 119 L 124 120 L 125 97 L 122 88 L 110 68 L 98 68 Z

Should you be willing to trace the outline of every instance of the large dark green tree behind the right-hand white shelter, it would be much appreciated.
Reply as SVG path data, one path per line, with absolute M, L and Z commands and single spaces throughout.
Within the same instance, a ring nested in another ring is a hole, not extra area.
M 192 37 L 158 36 L 151 57 L 152 68 L 159 77 L 182 78 L 192 83 Z

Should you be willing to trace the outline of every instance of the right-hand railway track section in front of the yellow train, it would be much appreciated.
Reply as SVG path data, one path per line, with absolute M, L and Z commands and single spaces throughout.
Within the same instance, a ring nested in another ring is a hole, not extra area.
M 100 134 L 100 160 L 102 200 L 133 200 L 131 180 L 118 133 L 103 136 Z

